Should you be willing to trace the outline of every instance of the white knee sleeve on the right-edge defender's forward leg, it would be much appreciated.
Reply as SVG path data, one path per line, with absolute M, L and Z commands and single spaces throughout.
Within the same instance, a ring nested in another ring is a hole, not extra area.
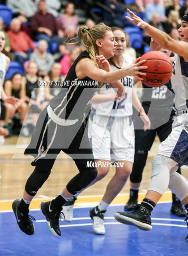
M 175 171 L 176 164 L 171 158 L 157 154 L 152 161 L 152 174 L 148 190 L 153 190 L 163 195 L 169 185 L 170 171 Z

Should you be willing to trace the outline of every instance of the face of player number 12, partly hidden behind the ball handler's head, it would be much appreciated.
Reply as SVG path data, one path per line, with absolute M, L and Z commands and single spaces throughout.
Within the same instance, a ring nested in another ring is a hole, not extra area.
M 118 45 L 115 47 L 115 56 L 121 56 L 124 53 L 124 50 L 126 48 L 126 39 L 125 34 L 121 30 L 115 30 L 113 31 L 115 41 L 118 43 Z

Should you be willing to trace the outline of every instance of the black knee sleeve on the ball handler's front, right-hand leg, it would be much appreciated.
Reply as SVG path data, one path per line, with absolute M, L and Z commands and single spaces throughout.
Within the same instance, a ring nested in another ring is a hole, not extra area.
M 78 167 L 79 173 L 67 184 L 68 192 L 73 195 L 81 189 L 86 188 L 98 174 L 95 167 L 87 167 L 87 161 L 85 160 L 78 160 L 75 161 L 75 163 Z

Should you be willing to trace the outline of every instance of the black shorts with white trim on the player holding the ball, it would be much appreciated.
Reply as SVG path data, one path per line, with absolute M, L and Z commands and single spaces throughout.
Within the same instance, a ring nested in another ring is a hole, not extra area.
M 82 162 L 94 161 L 83 121 L 78 119 L 74 125 L 69 126 L 57 125 L 48 117 L 45 108 L 38 117 L 30 144 L 24 154 L 35 158 L 31 163 L 33 166 L 47 164 L 52 167 L 61 150 L 74 161 L 78 159 Z

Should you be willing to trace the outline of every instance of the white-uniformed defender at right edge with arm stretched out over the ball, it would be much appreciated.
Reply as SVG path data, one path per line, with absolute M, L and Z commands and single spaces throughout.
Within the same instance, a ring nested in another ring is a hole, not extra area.
M 133 206 L 129 213 L 115 213 L 115 219 L 123 224 L 150 230 L 152 229 L 151 211 L 168 187 L 183 202 L 188 211 L 188 181 L 176 172 L 178 166 L 188 165 L 188 13 L 181 20 L 180 42 L 177 42 L 163 31 L 142 21 L 130 10 L 128 12 L 132 17 L 126 16 L 126 18 L 145 29 L 153 38 L 152 49 L 165 47 L 175 53 L 172 57 L 171 86 L 175 92 L 176 117 L 171 134 L 160 144 L 158 153 L 153 159 L 150 186 L 141 205 Z M 188 242 L 188 236 L 186 242 Z

